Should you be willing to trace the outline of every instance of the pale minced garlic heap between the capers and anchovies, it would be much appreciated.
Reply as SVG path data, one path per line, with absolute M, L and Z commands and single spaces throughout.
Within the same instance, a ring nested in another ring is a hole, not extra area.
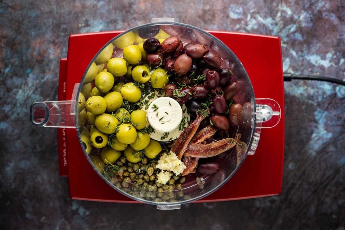
M 187 167 L 181 160 L 177 158 L 174 152 L 170 151 L 169 155 L 167 153 L 163 153 L 158 160 L 156 168 L 174 172 L 177 176 L 178 174 L 181 174 Z

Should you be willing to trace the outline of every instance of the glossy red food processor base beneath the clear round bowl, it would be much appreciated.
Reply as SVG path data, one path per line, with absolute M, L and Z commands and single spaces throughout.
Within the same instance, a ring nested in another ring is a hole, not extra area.
M 106 42 L 123 31 L 73 34 L 69 38 L 68 58 L 60 61 L 59 100 L 71 100 L 73 87 L 80 83 L 90 60 Z M 207 31 L 223 41 L 241 60 L 256 98 L 272 98 L 281 111 L 274 128 L 262 129 L 254 155 L 224 186 L 195 202 L 226 201 L 277 195 L 282 191 L 284 158 L 284 83 L 282 53 L 278 37 Z M 58 129 L 60 175 L 68 176 L 72 199 L 139 203 L 103 181 L 87 161 L 76 129 Z

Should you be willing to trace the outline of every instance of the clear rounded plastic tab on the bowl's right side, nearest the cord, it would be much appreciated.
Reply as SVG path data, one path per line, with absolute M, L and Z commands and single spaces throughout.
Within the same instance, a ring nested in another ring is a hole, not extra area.
M 275 127 L 281 116 L 280 106 L 277 101 L 270 98 L 256 98 L 256 129 L 253 135 L 253 142 L 250 144 L 248 154 L 253 155 L 259 143 L 261 129 Z M 252 108 L 254 110 L 254 108 Z

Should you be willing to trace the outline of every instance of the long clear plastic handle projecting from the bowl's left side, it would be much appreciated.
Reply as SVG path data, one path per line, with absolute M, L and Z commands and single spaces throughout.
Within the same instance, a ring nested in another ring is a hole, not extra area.
M 40 101 L 30 106 L 30 121 L 35 126 L 76 128 L 75 103 L 79 84 L 75 84 L 70 101 Z

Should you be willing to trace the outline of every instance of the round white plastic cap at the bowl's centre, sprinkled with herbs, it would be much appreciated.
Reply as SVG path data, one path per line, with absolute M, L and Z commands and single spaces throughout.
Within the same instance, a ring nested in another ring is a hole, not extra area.
M 147 120 L 158 132 L 170 132 L 176 129 L 182 120 L 180 104 L 169 97 L 160 97 L 152 101 L 147 109 Z

